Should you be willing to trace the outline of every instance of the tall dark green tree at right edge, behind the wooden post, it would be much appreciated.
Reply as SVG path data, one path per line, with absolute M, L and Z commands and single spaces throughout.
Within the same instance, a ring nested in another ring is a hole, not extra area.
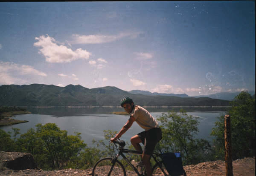
M 255 95 L 242 91 L 230 102 L 231 142 L 233 159 L 255 156 Z M 224 159 L 224 116 L 212 128 L 215 158 Z

